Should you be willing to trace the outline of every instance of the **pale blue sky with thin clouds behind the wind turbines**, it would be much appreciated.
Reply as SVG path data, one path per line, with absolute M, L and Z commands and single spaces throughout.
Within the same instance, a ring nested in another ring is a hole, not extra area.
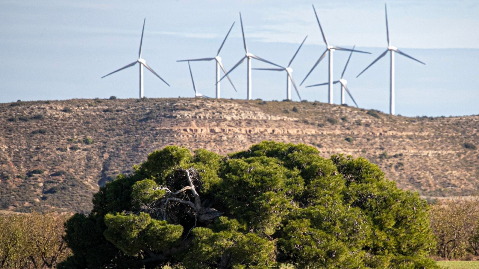
M 186 63 L 176 60 L 212 57 L 232 22 L 221 56 L 227 69 L 242 56 L 242 12 L 250 51 L 287 65 L 299 82 L 325 47 L 311 4 L 328 41 L 372 52 L 354 54 L 345 78 L 364 108 L 388 111 L 388 57 L 361 77 L 356 75 L 387 46 L 384 1 L 0 1 L 0 102 L 71 98 L 137 98 L 138 69 L 101 77 L 137 59 L 143 18 L 147 18 L 143 57 L 171 87 L 145 70 L 145 96 L 193 97 Z M 427 65 L 396 56 L 396 112 L 402 115 L 479 114 L 479 2 L 472 0 L 388 3 L 392 44 Z M 334 55 L 335 77 L 348 53 Z M 265 67 L 253 61 L 253 67 Z M 192 63 L 198 90 L 214 96 L 214 62 Z M 222 97 L 246 97 L 246 65 L 225 81 Z M 285 74 L 253 70 L 253 98 L 285 99 Z M 300 87 L 309 101 L 327 100 L 327 59 Z M 334 91 L 339 102 L 339 87 Z M 294 100 L 297 100 L 293 93 Z M 346 99 L 348 103 L 351 101 Z

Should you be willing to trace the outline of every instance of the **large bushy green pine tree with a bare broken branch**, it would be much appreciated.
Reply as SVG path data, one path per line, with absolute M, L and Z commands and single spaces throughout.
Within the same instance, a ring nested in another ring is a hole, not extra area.
M 63 268 L 436 268 L 428 205 L 364 158 L 167 146 L 65 224 Z

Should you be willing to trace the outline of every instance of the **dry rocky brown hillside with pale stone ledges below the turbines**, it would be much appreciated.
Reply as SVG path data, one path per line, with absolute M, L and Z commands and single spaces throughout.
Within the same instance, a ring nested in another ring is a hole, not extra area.
M 0 209 L 91 209 L 92 193 L 155 149 L 221 154 L 262 140 L 306 143 L 324 157 L 366 157 L 423 196 L 475 194 L 479 115 L 402 117 L 321 102 L 207 99 L 0 104 Z

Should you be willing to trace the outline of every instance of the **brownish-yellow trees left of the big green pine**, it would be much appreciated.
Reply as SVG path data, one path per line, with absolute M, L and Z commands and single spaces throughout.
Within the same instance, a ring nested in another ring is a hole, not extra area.
M 68 256 L 63 240 L 70 215 L 28 213 L 0 215 L 0 268 L 53 268 Z

